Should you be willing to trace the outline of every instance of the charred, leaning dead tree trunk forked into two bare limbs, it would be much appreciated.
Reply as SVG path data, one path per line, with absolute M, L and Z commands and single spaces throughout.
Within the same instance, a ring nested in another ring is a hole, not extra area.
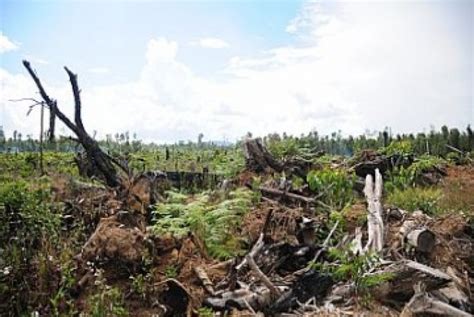
M 108 186 L 117 187 L 121 185 L 121 181 L 117 175 L 115 166 L 110 157 L 104 153 L 99 144 L 86 132 L 81 118 L 81 97 L 79 85 L 77 83 L 77 75 L 71 72 L 67 67 L 64 67 L 71 82 L 72 93 L 74 95 L 74 123 L 58 108 L 57 101 L 50 98 L 46 93 L 40 79 L 31 68 L 30 62 L 24 60 L 23 65 L 27 69 L 31 78 L 35 82 L 41 98 L 43 98 L 50 111 L 57 116 L 77 137 L 77 141 L 82 145 L 87 153 L 92 166 L 97 170 L 99 176 L 105 181 Z M 51 121 L 50 121 L 51 122 Z M 51 127 L 51 126 L 50 126 Z

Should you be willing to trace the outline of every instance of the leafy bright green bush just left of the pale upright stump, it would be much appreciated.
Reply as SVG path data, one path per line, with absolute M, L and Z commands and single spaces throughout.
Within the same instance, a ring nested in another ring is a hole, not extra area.
M 309 188 L 321 195 L 321 201 L 333 209 L 341 210 L 353 200 L 354 176 L 342 169 L 311 171 L 307 181 Z

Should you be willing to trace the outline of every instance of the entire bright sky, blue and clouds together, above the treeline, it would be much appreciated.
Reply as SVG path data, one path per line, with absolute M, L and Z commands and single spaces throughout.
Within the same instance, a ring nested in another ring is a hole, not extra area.
M 21 60 L 86 128 L 145 140 L 474 123 L 474 1 L 0 0 L 0 125 L 38 134 Z M 62 128 L 64 133 L 65 128 Z

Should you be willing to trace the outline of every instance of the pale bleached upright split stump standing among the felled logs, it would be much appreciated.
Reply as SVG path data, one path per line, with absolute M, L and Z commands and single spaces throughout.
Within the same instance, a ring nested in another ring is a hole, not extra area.
M 379 170 L 375 170 L 375 185 L 372 175 L 365 179 L 364 194 L 367 198 L 368 210 L 367 226 L 368 241 L 364 251 L 375 251 L 380 253 L 383 249 L 384 224 L 382 208 L 383 181 Z

